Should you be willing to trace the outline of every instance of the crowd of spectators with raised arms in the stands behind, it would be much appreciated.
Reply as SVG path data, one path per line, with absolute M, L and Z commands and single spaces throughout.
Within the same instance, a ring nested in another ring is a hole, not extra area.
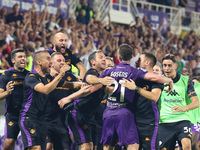
M 153 31 L 145 17 L 144 26 L 141 26 L 139 17 L 135 19 L 136 24 L 133 26 L 111 23 L 110 19 L 105 24 L 96 21 L 94 15 L 96 12 L 93 12 L 89 4 L 82 2 L 77 6 L 76 19 L 68 20 L 59 18 L 59 12 L 56 15 L 48 13 L 46 11 L 48 2 L 40 15 L 34 4 L 28 12 L 19 12 L 17 4 L 13 6 L 11 12 L 2 8 L 0 10 L 1 69 L 12 67 L 9 53 L 15 48 L 26 50 L 30 58 L 27 60 L 28 66 L 28 63 L 32 63 L 31 57 L 34 52 L 52 47 L 53 35 L 63 32 L 68 37 L 68 48 L 83 61 L 87 69 L 89 69 L 88 56 L 96 49 L 101 49 L 105 55 L 113 57 L 115 64 L 118 64 L 118 46 L 127 43 L 134 49 L 132 66 L 135 66 L 139 54 L 144 51 L 154 53 L 160 66 L 162 57 L 167 53 L 173 53 L 179 60 L 178 72 L 183 66 L 189 65 L 195 76 L 200 74 L 200 38 L 193 31 L 183 39 L 173 35 L 170 28 L 161 34 L 162 25 Z

